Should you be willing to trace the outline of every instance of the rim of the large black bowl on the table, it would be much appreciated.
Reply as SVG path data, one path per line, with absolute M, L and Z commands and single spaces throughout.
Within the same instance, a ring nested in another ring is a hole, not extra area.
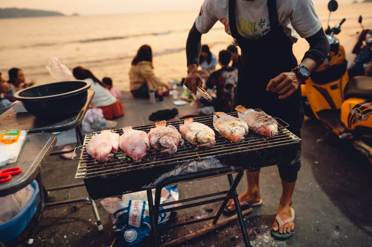
M 16 92 L 13 95 L 13 97 L 16 100 L 22 101 L 22 102 L 36 102 L 36 101 L 45 101 L 45 100 L 51 100 L 51 99 L 60 99 L 60 98 L 65 98 L 65 97 L 68 97 L 68 96 L 76 95 L 78 93 L 82 93 L 82 92 L 88 90 L 92 86 L 90 84 L 90 82 L 87 82 L 85 80 L 70 80 L 70 81 L 62 81 L 62 82 L 84 82 L 84 83 L 86 83 L 86 85 L 83 86 L 82 88 L 76 89 L 74 91 L 70 91 L 70 92 L 67 92 L 67 93 L 60 93 L 60 94 L 56 94 L 56 95 L 40 96 L 40 97 L 19 96 L 20 93 L 22 93 L 23 91 L 26 91 L 28 89 L 31 89 L 31 88 L 36 88 L 36 87 L 45 86 L 45 85 L 52 85 L 52 84 L 55 84 L 55 83 L 61 83 L 61 82 L 52 82 L 52 83 L 46 83 L 46 84 L 37 85 L 37 86 L 30 87 L 30 88 L 25 88 L 25 89 L 19 90 L 18 92 Z

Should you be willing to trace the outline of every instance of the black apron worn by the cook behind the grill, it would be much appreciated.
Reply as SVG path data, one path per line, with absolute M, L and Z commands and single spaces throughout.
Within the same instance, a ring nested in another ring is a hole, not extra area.
M 287 99 L 279 99 L 278 93 L 267 92 L 269 81 L 282 72 L 290 72 L 297 66 L 293 43 L 284 33 L 278 21 L 276 0 L 267 0 L 271 30 L 258 40 L 249 40 L 238 33 L 235 19 L 235 0 L 229 0 L 231 36 L 241 48 L 237 99 L 235 105 L 260 108 L 273 117 L 287 122 L 292 132 L 298 132 L 304 121 L 301 87 Z

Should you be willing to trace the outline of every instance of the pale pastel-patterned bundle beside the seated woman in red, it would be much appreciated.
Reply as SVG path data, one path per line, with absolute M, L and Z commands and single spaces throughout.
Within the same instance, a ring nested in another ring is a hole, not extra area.
M 88 109 L 84 116 L 83 132 L 90 133 L 107 129 L 106 119 L 101 108 Z

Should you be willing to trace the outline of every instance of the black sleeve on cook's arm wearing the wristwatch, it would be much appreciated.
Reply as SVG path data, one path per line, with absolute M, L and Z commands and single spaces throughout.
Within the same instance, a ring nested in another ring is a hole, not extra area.
M 323 28 L 313 36 L 306 38 L 310 44 L 310 49 L 305 53 L 305 58 L 311 58 L 317 62 L 318 67 L 323 63 L 324 58 L 328 55 L 330 47 L 327 37 L 324 34 Z

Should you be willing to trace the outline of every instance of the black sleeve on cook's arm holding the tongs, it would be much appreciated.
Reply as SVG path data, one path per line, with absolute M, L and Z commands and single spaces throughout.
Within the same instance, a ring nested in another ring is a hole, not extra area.
M 195 63 L 199 66 L 199 57 L 201 52 L 201 38 L 202 34 L 196 29 L 195 22 L 189 32 L 186 41 L 186 57 L 187 66 Z

